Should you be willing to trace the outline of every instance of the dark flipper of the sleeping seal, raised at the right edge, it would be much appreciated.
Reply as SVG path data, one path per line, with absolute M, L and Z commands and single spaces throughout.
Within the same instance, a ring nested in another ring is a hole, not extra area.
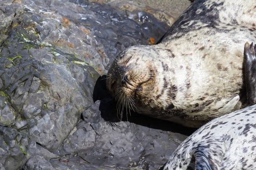
M 244 45 L 244 74 L 247 91 L 247 104 L 256 104 L 256 45 Z

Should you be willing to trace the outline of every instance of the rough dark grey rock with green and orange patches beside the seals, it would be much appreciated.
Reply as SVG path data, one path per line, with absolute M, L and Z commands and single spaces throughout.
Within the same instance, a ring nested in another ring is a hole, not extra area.
M 160 168 L 186 138 L 173 132 L 192 130 L 136 113 L 120 121 L 99 77 L 168 28 L 85 0 L 1 0 L 0 169 Z

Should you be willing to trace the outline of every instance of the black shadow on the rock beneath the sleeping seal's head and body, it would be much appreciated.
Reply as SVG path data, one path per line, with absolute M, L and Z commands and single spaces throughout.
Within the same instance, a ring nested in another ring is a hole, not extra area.
M 186 136 L 191 135 L 196 130 L 196 128 L 184 127 L 182 125 L 178 125 L 169 121 L 148 117 L 134 111 L 128 111 L 128 114 L 126 114 L 126 109 L 123 111 L 124 116 L 122 116 L 121 118 L 120 114 L 117 113 L 117 103 L 115 99 L 107 91 L 106 79 L 107 77 L 105 75 L 99 77 L 96 81 L 96 85 L 93 91 L 93 102 L 101 100 L 99 110 L 101 111 L 101 116 L 105 121 L 113 123 L 120 121 L 129 121 L 137 125 L 142 125 L 153 129 L 171 131 L 174 133 L 180 133 Z

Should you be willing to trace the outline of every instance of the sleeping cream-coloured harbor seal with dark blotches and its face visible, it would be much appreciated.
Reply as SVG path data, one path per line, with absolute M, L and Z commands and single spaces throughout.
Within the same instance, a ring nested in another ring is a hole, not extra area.
M 244 43 L 256 42 L 255 7 L 252 0 L 197 0 L 159 44 L 121 52 L 106 80 L 119 112 L 200 127 L 254 104 L 255 69 Z

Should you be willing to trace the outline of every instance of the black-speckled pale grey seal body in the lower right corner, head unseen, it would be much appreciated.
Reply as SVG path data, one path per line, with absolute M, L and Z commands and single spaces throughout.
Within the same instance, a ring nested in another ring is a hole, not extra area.
M 174 151 L 163 170 L 255 170 L 256 105 L 208 122 Z

